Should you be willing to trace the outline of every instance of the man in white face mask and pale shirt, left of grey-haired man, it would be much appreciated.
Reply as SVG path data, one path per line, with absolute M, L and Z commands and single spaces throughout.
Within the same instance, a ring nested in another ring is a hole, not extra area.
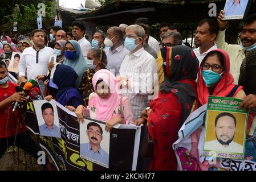
M 115 73 L 115 76 L 119 74 L 119 69 L 123 63 L 124 57 L 129 52 L 124 48 L 123 41 L 123 32 L 119 27 L 108 28 L 107 37 L 104 40 L 105 46 L 110 47 L 106 51 L 108 58 L 107 69 Z

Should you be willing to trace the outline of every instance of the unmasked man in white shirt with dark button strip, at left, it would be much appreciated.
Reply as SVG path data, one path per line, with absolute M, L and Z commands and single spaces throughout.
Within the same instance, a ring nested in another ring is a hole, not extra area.
M 54 54 L 54 49 L 44 47 L 44 31 L 36 29 L 31 32 L 33 47 L 24 49 L 21 60 L 19 61 L 19 76 L 21 82 L 35 79 L 37 75 L 47 75 L 47 64 L 50 55 Z M 25 78 L 27 71 L 27 79 Z M 44 90 L 44 85 L 40 84 Z

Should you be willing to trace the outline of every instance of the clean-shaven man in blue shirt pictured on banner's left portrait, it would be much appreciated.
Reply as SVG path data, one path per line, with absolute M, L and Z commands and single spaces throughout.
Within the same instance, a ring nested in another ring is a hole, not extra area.
M 47 137 L 60 137 L 60 129 L 54 125 L 54 107 L 48 102 L 41 106 L 44 124 L 39 126 L 40 135 Z

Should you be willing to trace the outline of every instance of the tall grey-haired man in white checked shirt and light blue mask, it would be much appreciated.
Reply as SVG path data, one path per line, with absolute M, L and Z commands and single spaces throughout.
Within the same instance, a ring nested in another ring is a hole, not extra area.
M 143 48 L 144 28 L 133 24 L 126 29 L 124 47 L 129 53 L 125 56 L 117 77 L 124 96 L 131 102 L 135 119 L 148 106 L 153 88 L 157 85 L 156 59 Z

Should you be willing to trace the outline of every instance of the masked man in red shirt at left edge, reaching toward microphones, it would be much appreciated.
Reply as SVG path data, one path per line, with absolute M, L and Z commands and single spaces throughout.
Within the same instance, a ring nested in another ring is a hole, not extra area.
M 21 92 L 15 92 L 13 82 L 8 81 L 8 71 L 6 64 L 0 61 L 0 159 L 10 146 L 17 146 L 25 150 L 35 159 L 42 149 L 31 139 L 26 123 L 18 109 L 13 113 L 14 102 L 25 102 L 26 98 Z M 16 165 L 16 164 L 15 164 Z M 49 160 L 46 158 L 43 165 L 47 169 L 54 169 Z

